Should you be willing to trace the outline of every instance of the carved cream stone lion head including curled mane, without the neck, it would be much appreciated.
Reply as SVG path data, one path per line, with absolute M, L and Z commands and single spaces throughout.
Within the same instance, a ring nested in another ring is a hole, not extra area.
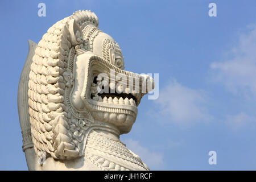
M 31 64 L 28 105 L 36 152 L 55 159 L 83 155 L 86 132 L 128 133 L 137 106 L 154 85 L 124 71 L 121 48 L 86 10 L 55 23 L 43 35 Z M 144 92 L 143 92 L 144 89 Z

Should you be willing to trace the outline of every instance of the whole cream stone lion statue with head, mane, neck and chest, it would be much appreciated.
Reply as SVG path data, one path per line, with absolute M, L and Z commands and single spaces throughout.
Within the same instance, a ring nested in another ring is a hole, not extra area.
M 126 148 L 147 75 L 124 71 L 122 51 L 80 10 L 30 50 L 18 90 L 23 151 L 30 170 L 149 170 Z

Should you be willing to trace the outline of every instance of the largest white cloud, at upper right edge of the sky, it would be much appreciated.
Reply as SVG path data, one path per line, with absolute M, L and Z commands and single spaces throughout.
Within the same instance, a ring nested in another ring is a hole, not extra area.
M 234 94 L 256 98 L 256 26 L 248 26 L 228 53 L 232 58 L 210 65 L 213 79 Z

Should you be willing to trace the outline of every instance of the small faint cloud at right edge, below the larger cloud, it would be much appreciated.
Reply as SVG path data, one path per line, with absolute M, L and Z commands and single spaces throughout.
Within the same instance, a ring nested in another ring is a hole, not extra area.
M 226 124 L 233 130 L 242 129 L 242 127 L 252 126 L 256 122 L 255 117 L 251 117 L 246 113 L 238 113 L 236 115 L 228 115 L 226 117 Z

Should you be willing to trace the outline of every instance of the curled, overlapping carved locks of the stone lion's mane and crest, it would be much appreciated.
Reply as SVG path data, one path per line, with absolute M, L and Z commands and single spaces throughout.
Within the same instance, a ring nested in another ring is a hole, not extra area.
M 79 26 L 71 32 L 72 22 Z M 28 81 L 28 113 L 36 154 L 55 159 L 72 159 L 82 155 L 68 106 L 65 105 L 64 79 L 72 47 L 82 46 L 82 30 L 91 24 L 98 27 L 97 16 L 86 10 L 60 20 L 43 35 L 32 59 Z M 75 39 L 73 34 L 75 34 Z

